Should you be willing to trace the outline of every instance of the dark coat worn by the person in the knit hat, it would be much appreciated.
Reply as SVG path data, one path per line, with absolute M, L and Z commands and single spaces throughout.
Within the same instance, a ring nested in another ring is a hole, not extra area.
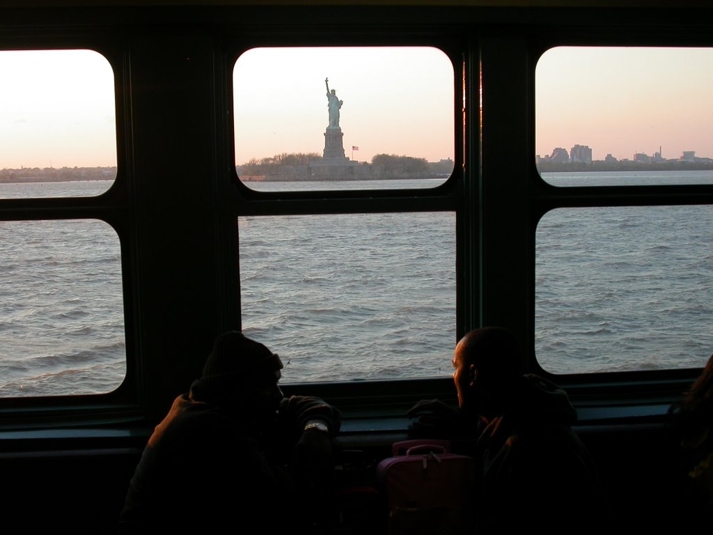
M 294 531 L 303 504 L 287 468 L 289 449 L 309 419 L 322 419 L 336 433 L 339 411 L 318 398 L 292 396 L 278 414 L 261 431 L 192 394 L 177 397 L 130 481 L 119 532 Z

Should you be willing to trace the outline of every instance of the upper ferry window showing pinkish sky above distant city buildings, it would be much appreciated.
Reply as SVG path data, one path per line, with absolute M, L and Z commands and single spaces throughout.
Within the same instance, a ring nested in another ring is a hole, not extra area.
M 535 151 L 558 186 L 713 183 L 713 49 L 560 46 L 535 70 Z

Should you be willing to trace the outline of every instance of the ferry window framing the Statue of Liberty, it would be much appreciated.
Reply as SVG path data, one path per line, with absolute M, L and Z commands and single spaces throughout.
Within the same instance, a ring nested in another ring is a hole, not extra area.
M 237 175 L 255 190 L 440 185 L 453 72 L 431 47 L 250 49 L 233 71 Z

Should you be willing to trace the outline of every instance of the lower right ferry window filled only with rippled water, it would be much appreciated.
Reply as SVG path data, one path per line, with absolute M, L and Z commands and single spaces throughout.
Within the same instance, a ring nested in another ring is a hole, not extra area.
M 535 352 L 545 370 L 705 365 L 713 206 L 558 208 L 535 239 Z

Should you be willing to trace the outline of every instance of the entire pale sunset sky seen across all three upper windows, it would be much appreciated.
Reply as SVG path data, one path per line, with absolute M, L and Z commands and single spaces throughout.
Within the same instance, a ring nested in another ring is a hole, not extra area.
M 0 51 L 0 168 L 116 165 L 113 71 L 93 51 Z M 234 71 L 236 163 L 324 150 L 327 89 L 346 156 L 453 157 L 453 66 L 437 49 L 252 49 Z M 535 71 L 535 153 L 713 158 L 713 49 L 558 47 Z M 352 146 L 359 151 L 352 153 Z

